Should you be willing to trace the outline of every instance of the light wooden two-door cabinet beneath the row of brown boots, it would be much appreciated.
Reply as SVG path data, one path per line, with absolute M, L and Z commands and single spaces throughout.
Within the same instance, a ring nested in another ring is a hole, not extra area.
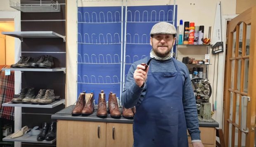
M 57 121 L 57 147 L 133 146 L 133 124 Z

